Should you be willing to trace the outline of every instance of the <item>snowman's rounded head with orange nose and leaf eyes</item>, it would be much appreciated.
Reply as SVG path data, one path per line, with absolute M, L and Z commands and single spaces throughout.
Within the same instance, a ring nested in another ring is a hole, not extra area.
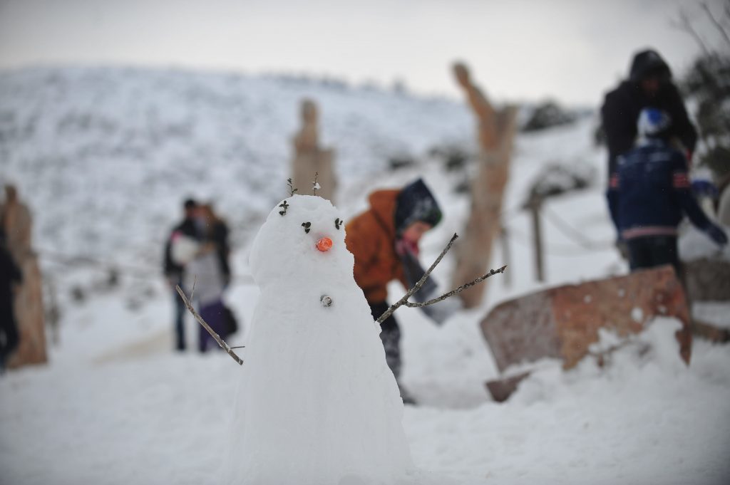
M 253 241 L 249 263 L 259 286 L 353 277 L 342 216 L 314 195 L 292 195 L 274 207 Z

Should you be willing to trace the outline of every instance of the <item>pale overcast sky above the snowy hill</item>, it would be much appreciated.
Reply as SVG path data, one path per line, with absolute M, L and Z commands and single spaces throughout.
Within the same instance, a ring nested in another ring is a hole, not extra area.
M 680 7 L 717 39 L 693 0 L 0 0 L 0 69 L 276 71 L 455 97 L 461 59 L 498 101 L 595 105 L 643 47 L 688 66 L 699 47 L 670 25 Z

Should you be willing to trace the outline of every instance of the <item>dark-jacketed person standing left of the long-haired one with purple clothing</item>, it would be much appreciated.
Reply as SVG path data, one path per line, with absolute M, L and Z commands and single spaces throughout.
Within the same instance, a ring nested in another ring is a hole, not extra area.
M 183 208 L 185 210 L 185 218 L 172 229 L 167 238 L 163 263 L 164 275 L 169 286 L 172 288 L 172 298 L 174 298 L 175 304 L 175 349 L 180 351 L 185 350 L 185 303 L 183 303 L 180 295 L 177 294 L 175 285 L 179 284 L 181 288 L 185 288 L 183 286 L 185 266 L 174 261 L 172 257 L 172 241 L 179 236 L 186 236 L 198 240 L 201 232 L 196 222 L 198 203 L 193 199 L 188 199 L 183 204 Z

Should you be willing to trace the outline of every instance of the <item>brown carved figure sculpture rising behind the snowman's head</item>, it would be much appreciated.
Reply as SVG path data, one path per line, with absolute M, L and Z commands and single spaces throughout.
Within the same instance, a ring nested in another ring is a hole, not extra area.
M 291 178 L 297 193 L 312 195 L 312 182 L 317 174 L 320 189 L 317 195 L 334 203 L 337 177 L 334 174 L 334 150 L 319 146 L 317 105 L 311 99 L 301 101 L 301 129 L 294 136 Z

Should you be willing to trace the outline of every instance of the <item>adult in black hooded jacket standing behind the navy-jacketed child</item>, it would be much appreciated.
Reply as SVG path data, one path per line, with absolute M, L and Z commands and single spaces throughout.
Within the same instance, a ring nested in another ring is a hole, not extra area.
M 685 109 L 672 71 L 656 50 L 642 50 L 631 61 L 629 79 L 606 95 L 601 108 L 608 145 L 608 174 L 616 171 L 620 155 L 634 147 L 637 119 L 642 109 L 652 107 L 666 112 L 672 119 L 669 136 L 683 145 L 685 163 L 691 162 L 697 143 L 697 131 Z

